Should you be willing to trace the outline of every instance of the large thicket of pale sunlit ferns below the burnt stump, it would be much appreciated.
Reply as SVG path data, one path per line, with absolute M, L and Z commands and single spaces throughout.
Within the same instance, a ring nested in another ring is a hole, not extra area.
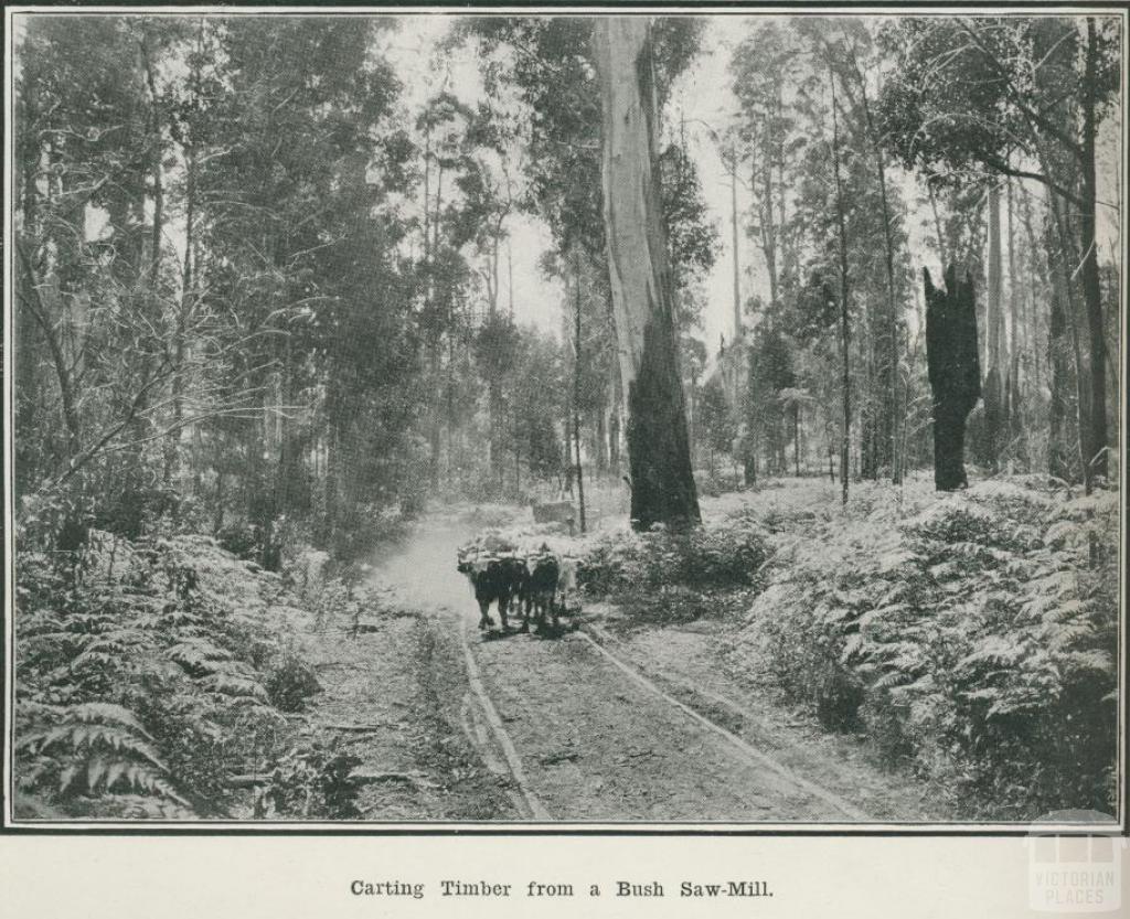
M 736 652 L 749 678 L 866 731 L 970 816 L 1113 813 L 1116 562 L 1089 558 L 1115 496 L 1012 479 L 857 501 L 851 527 L 774 557 Z

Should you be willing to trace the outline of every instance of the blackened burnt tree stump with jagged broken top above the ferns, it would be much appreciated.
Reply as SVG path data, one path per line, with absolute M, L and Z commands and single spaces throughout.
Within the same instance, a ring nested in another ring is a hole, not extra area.
M 925 355 L 933 392 L 933 484 L 939 492 L 968 485 L 965 476 L 965 419 L 981 396 L 977 317 L 973 279 L 957 280 L 950 265 L 946 286 L 925 280 Z

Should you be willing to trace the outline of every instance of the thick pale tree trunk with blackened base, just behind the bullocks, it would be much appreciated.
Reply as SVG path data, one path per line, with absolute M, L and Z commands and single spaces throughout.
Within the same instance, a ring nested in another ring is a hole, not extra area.
M 672 286 L 655 170 L 651 29 L 643 17 L 598 19 L 605 228 L 620 375 L 627 401 L 632 524 L 701 521 L 672 321 Z

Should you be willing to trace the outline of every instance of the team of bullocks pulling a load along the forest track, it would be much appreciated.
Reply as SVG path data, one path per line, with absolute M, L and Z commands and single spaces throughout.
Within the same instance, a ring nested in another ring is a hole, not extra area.
M 512 543 L 489 534 L 459 549 L 455 567 L 475 589 L 479 628 L 494 625 L 490 604 L 498 607 L 503 632 L 510 627 L 511 613 L 521 613 L 520 631 L 529 632 L 531 613 L 541 631 L 547 615 L 556 630 L 559 615 L 575 612 L 568 599 L 576 589 L 576 562 L 553 552 L 545 543 L 522 553 Z

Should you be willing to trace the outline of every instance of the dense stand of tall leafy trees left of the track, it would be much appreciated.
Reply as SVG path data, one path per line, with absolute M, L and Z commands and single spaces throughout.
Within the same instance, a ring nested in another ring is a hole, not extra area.
M 393 26 L 21 33 L 16 485 L 61 489 L 75 538 L 171 513 L 273 567 L 293 522 L 348 552 L 429 480 L 558 471 L 560 349 L 499 310 L 507 127 L 445 92 L 412 123 Z

